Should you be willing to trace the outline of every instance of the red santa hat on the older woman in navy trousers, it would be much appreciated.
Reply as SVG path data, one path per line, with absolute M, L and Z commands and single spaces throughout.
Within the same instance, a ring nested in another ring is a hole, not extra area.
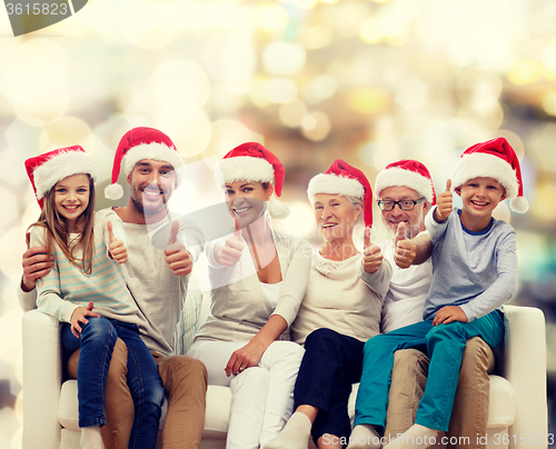
M 315 194 L 329 193 L 363 199 L 365 226 L 373 227 L 373 190 L 364 172 L 341 159 L 336 159 L 328 170 L 309 181 L 307 196 L 315 204 Z

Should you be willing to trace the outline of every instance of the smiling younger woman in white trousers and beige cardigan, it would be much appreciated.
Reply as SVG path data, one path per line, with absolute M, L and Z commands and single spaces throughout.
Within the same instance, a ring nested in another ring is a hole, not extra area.
M 219 162 L 236 232 L 207 245 L 211 316 L 188 355 L 201 360 L 209 385 L 231 388 L 226 447 L 258 449 L 281 430 L 294 408 L 304 349 L 288 328 L 305 296 L 310 246 L 276 232 L 285 171 L 259 143 L 244 143 Z

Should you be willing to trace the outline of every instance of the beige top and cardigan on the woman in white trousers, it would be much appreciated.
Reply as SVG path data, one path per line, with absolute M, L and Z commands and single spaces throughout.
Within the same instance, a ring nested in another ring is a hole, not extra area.
M 282 317 L 288 326 L 297 316 L 309 279 L 311 248 L 297 237 L 272 232 L 282 283 L 276 308 L 270 306 L 255 271 L 249 251 L 244 250 L 235 267 L 218 266 L 207 245 L 212 268 L 211 315 L 202 323 L 197 340 L 249 341 L 272 315 Z M 222 282 L 229 280 L 230 282 Z M 280 339 L 289 338 L 286 331 Z

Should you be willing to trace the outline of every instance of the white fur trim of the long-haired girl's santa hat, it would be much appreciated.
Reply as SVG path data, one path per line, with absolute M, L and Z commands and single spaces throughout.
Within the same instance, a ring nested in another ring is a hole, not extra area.
M 81 151 L 60 152 L 34 169 L 37 199 L 43 198 L 58 181 L 72 174 L 89 174 L 96 181 L 99 169 L 92 159 Z

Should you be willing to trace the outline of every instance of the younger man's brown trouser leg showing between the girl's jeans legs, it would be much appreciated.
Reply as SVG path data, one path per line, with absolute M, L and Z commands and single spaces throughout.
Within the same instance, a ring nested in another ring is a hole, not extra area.
M 73 352 L 68 360 L 68 376 L 77 379 L 80 351 Z M 121 449 L 129 445 L 133 427 L 135 407 L 126 376 L 128 373 L 128 348 L 121 339 L 116 340 L 112 358 L 108 368 L 105 387 L 106 426 L 100 428 L 105 449 Z

